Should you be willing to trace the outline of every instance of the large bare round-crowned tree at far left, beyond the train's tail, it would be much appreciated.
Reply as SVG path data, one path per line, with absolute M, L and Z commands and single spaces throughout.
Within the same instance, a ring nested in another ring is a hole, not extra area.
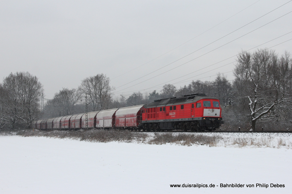
M 32 126 L 32 121 L 39 115 L 39 101 L 43 86 L 36 76 L 29 72 L 10 74 L 3 81 L 7 92 L 7 112 L 11 117 L 12 127 L 16 123 Z

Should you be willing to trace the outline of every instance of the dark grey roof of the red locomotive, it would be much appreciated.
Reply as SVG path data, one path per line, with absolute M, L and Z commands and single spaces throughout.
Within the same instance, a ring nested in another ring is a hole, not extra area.
M 216 99 L 213 97 L 208 97 L 206 94 L 191 94 L 191 95 L 184 95 L 179 98 L 166 98 L 166 99 L 160 99 L 155 100 L 154 102 L 148 104 L 145 108 L 153 108 L 153 107 L 159 107 L 159 106 L 170 106 L 170 105 L 176 105 L 176 104 L 187 104 L 192 102 L 197 102 L 201 99 Z

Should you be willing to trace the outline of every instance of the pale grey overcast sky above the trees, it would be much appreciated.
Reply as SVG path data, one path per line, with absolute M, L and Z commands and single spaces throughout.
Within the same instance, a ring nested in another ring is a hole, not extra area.
M 0 78 L 28 71 L 44 85 L 45 98 L 101 73 L 116 96 L 212 81 L 218 72 L 232 80 L 241 50 L 292 52 L 287 2 L 1 0 Z

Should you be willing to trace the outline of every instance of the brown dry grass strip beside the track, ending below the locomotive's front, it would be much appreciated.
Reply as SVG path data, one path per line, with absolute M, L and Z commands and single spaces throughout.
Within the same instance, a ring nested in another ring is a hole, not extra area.
M 147 143 L 147 144 L 178 144 L 178 145 L 210 145 L 215 146 L 220 136 L 207 136 L 202 134 L 191 133 L 140 133 L 132 131 L 117 130 L 79 130 L 79 131 L 40 131 L 40 130 L 23 130 L 17 135 L 23 137 L 50 137 L 50 138 L 68 138 L 80 141 L 90 142 L 126 142 L 126 143 Z

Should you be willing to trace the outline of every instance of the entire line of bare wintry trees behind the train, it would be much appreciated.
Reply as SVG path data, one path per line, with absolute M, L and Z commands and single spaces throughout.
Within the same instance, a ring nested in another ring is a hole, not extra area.
M 43 86 L 28 72 L 9 74 L 0 84 L 0 130 L 29 128 L 34 120 L 110 108 L 149 104 L 157 99 L 204 93 L 219 99 L 224 128 L 288 128 L 292 123 L 292 59 L 285 52 L 259 49 L 237 55 L 232 81 L 218 73 L 213 81 L 193 80 L 176 88 L 165 84 L 149 95 L 141 92 L 113 98 L 114 87 L 104 74 L 90 76 L 78 88 L 63 88 L 41 109 Z M 85 99 L 87 98 L 87 99 Z M 256 123 L 258 123 L 256 125 Z

